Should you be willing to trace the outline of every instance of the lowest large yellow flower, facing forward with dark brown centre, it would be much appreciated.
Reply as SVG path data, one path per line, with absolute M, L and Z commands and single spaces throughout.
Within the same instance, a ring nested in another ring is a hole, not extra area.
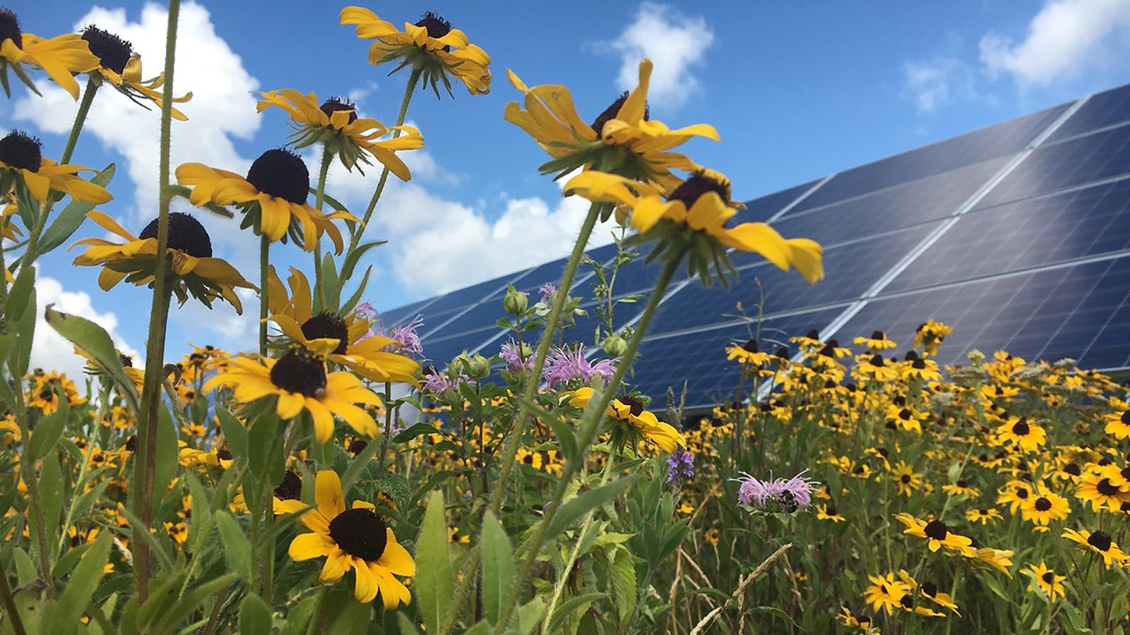
M 353 571 L 354 597 L 359 602 L 372 602 L 380 593 L 388 610 L 410 603 L 411 593 L 397 576 L 416 575 L 416 563 L 376 515 L 376 507 L 354 501 L 347 510 L 341 479 L 332 470 L 321 470 L 314 477 L 314 498 L 318 507 L 299 517 L 311 533 L 301 533 L 290 541 L 290 557 L 324 557 L 319 576 L 324 584 L 333 584 Z

